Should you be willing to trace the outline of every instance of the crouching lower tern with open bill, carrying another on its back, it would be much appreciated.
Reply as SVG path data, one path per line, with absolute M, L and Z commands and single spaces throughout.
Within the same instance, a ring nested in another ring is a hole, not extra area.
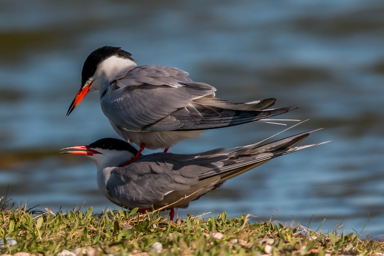
M 124 140 L 104 138 L 87 146 L 67 147 L 61 153 L 86 155 L 96 163 L 99 190 L 112 203 L 124 208 L 170 210 L 187 208 L 210 190 L 219 188 L 226 180 L 247 172 L 269 160 L 311 144 L 294 147 L 312 131 L 297 134 L 268 144 L 262 142 L 235 147 L 218 148 L 198 154 L 154 153 L 140 155 L 139 160 L 121 167 L 137 154 Z

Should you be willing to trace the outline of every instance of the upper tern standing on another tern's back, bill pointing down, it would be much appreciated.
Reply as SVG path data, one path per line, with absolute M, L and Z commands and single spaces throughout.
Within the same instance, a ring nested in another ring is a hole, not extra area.
M 81 87 L 67 116 L 84 96 L 99 90 L 100 106 L 113 129 L 140 149 L 165 149 L 207 129 L 235 126 L 284 114 L 299 106 L 266 109 L 276 99 L 247 103 L 215 97 L 216 88 L 193 82 L 189 73 L 167 66 L 137 66 L 131 53 L 103 46 L 86 58 Z M 129 164 L 126 163 L 126 164 Z

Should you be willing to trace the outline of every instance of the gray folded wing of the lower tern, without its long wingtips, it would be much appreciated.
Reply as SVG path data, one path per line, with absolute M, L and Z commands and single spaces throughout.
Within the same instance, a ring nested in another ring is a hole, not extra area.
M 224 148 L 202 154 L 155 153 L 111 172 L 107 189 L 127 207 L 151 208 L 172 191 L 187 190 L 202 172 L 223 166 Z

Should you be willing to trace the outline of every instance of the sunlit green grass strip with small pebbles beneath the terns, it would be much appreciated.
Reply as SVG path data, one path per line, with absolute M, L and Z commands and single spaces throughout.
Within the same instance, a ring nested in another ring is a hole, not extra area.
M 227 218 L 188 215 L 170 222 L 158 211 L 137 214 L 137 209 L 85 212 L 29 211 L 15 208 L 0 200 L 0 237 L 12 237 L 18 244 L 0 249 L 13 254 L 25 251 L 55 255 L 63 249 L 93 247 L 99 255 L 129 255 L 148 252 L 151 255 L 382 255 L 383 243 L 359 239 L 356 233 L 345 235 L 312 231 L 301 225 L 250 223 L 248 216 Z M 136 214 L 135 214 L 136 213 Z M 132 226 L 130 228 L 129 225 Z M 127 229 L 130 228 L 130 229 Z M 223 236 L 221 239 L 220 234 Z M 215 238 L 214 236 L 218 236 Z M 157 254 L 152 245 L 164 248 Z M 50 253 L 47 253 L 50 251 Z M 379 252 L 378 254 L 376 254 Z

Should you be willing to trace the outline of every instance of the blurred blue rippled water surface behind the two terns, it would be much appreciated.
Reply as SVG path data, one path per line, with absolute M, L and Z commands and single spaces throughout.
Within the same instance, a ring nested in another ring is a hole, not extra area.
M 384 233 L 384 2 L 0 1 L 0 195 L 38 208 L 110 207 L 89 159 L 59 148 L 118 137 L 90 93 L 66 117 L 84 59 L 121 46 L 138 65 L 174 66 L 217 97 L 276 107 L 325 128 L 305 142 L 333 142 L 274 159 L 194 201 L 187 212 Z M 283 116 L 282 116 L 283 117 Z M 251 123 L 209 130 L 170 152 L 257 142 L 283 129 Z M 280 136 L 281 138 L 281 136 Z M 303 142 L 302 142 L 303 143 Z M 150 153 L 146 150 L 144 153 Z M 317 227 L 316 227 L 317 228 Z

